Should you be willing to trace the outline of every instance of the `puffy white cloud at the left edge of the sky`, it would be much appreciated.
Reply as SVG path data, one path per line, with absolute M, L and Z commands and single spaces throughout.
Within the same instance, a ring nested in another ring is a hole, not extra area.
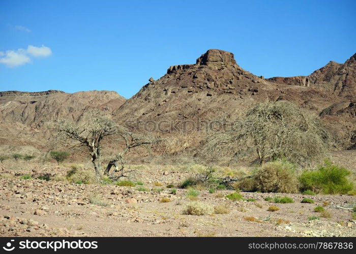
M 47 57 L 52 54 L 49 47 L 28 45 L 27 49 L 0 51 L 0 63 L 8 67 L 18 67 L 31 62 L 31 57 Z

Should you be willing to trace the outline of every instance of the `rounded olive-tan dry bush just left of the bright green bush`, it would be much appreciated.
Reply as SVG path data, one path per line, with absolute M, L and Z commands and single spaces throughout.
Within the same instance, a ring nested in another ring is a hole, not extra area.
M 284 160 L 266 163 L 254 177 L 255 189 L 269 193 L 298 193 L 295 170 L 295 164 Z

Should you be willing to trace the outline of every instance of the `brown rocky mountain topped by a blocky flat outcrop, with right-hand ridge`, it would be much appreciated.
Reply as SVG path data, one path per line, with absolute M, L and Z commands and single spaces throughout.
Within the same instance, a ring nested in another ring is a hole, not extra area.
M 171 66 L 159 80 L 151 79 L 114 115 L 137 131 L 171 137 L 172 151 L 194 152 L 211 120 L 243 114 L 258 102 L 287 100 L 320 114 L 338 147 L 349 148 L 356 130 L 354 59 L 330 62 L 307 77 L 264 79 L 242 69 L 232 53 L 211 49 L 195 64 Z M 332 115 L 335 110 L 327 109 L 334 104 L 342 111 Z

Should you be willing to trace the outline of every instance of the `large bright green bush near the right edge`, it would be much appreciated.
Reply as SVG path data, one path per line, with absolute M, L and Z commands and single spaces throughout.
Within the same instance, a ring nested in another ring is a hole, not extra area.
M 303 171 L 300 176 L 302 189 L 324 194 L 346 194 L 353 189 L 353 183 L 347 179 L 350 171 L 336 166 L 329 160 L 316 170 Z

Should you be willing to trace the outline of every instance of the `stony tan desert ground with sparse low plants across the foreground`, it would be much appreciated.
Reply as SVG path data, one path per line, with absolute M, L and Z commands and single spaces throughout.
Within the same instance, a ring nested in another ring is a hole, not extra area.
M 354 155 L 344 151 L 333 158 L 338 163 L 350 158 L 354 170 Z M 130 165 L 135 186 L 68 182 L 66 175 L 75 167 L 82 166 L 5 161 L 0 166 L 0 236 L 356 236 L 355 196 L 241 192 L 244 200 L 233 201 L 226 197 L 233 189 L 210 193 L 201 187 L 193 197 L 178 186 L 198 166 Z M 227 170 L 247 169 L 222 168 L 220 173 Z M 276 204 L 278 196 L 293 203 Z M 314 203 L 301 203 L 304 198 Z M 187 214 L 191 202 L 214 212 Z M 269 211 L 270 206 L 279 210 Z M 317 206 L 327 212 L 315 212 Z

